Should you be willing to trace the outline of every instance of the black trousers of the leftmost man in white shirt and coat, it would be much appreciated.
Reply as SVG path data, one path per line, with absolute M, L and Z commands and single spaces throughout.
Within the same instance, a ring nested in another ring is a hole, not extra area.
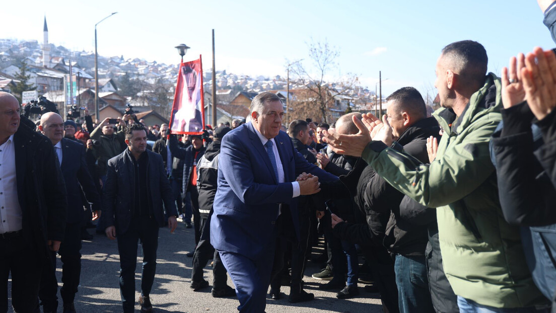
M 41 247 L 46 249 L 46 247 Z M 8 275 L 12 274 L 15 312 L 39 312 L 38 290 L 46 258 L 23 237 L 0 239 L 0 312 L 8 311 Z

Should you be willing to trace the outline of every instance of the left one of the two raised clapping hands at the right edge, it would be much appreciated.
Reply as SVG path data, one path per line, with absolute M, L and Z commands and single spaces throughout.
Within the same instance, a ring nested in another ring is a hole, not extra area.
M 513 107 L 525 101 L 523 88 L 522 68 L 525 67 L 525 56 L 519 53 L 518 57 L 511 57 L 509 69 L 502 68 L 502 104 L 504 108 Z

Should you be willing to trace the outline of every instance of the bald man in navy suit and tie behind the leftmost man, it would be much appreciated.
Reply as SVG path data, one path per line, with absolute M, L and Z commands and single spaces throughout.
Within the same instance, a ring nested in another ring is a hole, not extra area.
M 68 195 L 66 233 L 58 251 L 63 264 L 63 286 L 60 289 L 60 295 L 63 300 L 63 312 L 73 313 L 75 312 L 73 299 L 75 299 L 81 275 L 81 224 L 85 213 L 83 211 L 82 193 L 85 193 L 85 200 L 92 203 L 93 219 L 100 212 L 100 196 L 85 162 L 85 146 L 80 142 L 63 137 L 64 122 L 62 117 L 53 112 L 45 113 L 41 117 L 41 125 L 38 128 L 44 136 L 52 141 L 66 182 Z M 47 264 L 43 271 L 39 292 L 44 312 L 56 312 L 58 308 L 56 252 L 54 251 L 51 251 L 50 262 L 52 266 Z

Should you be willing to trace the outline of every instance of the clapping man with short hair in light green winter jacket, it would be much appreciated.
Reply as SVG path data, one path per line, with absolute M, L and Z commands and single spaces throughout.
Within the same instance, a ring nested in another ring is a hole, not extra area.
M 386 118 L 365 116 L 363 123 L 354 121 L 358 134 L 331 131 L 326 142 L 336 152 L 362 156 L 396 189 L 437 208 L 444 271 L 460 312 L 548 312 L 525 264 L 519 228 L 500 209 L 489 141 L 501 120 L 501 86 L 494 74 L 486 75 L 487 63 L 478 42 L 442 50 L 435 87 L 443 108 L 434 117 L 443 135 L 438 147 L 431 140 L 430 165 L 385 145 L 391 136 Z

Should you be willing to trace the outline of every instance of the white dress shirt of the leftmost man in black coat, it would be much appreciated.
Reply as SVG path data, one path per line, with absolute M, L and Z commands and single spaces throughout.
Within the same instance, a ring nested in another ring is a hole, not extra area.
M 23 213 L 17 197 L 13 135 L 0 146 L 0 233 L 21 230 Z

